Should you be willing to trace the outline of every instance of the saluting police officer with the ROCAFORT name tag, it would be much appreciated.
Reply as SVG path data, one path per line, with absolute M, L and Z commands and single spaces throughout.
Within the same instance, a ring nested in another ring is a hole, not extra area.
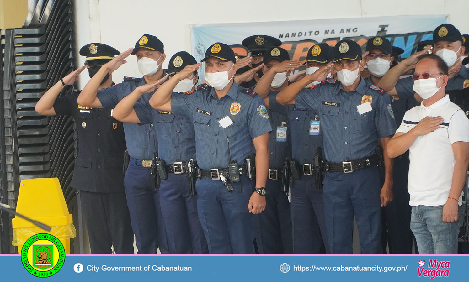
M 168 75 L 177 74 L 185 66 L 196 63 L 196 59 L 188 52 L 177 52 L 169 61 Z M 191 90 L 198 78 L 197 74 L 193 73 L 192 76 L 180 81 L 176 88 L 180 91 Z M 137 87 L 117 104 L 114 117 L 123 122 L 151 123 L 156 127 L 161 149 L 153 165 L 156 166 L 154 173 L 158 173 L 161 179 L 159 201 L 170 252 L 208 253 L 204 231 L 197 217 L 197 195 L 190 195 L 190 185 L 195 183 L 197 173 L 193 173 L 189 179 L 186 177 L 188 170 L 194 170 L 196 166 L 192 119 L 175 115 L 171 111 L 155 110 L 149 102 L 137 102 L 142 94 L 150 93 L 155 88 L 151 84 Z M 192 92 L 182 93 L 190 95 Z

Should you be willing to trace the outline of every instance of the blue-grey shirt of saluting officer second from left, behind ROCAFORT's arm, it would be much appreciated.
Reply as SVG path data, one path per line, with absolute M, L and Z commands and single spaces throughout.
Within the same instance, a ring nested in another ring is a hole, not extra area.
M 166 73 L 163 72 L 163 76 Z M 98 91 L 99 102 L 103 107 L 114 107 L 122 100 L 123 97 L 129 95 L 137 87 L 146 84 L 144 78 L 124 77 L 124 81 L 114 86 L 101 89 Z M 144 93 L 137 102 L 147 102 L 153 93 Z M 125 141 L 127 142 L 127 152 L 129 156 L 136 160 L 151 160 L 158 149 L 158 142 L 154 127 L 151 124 L 136 124 L 124 122 Z

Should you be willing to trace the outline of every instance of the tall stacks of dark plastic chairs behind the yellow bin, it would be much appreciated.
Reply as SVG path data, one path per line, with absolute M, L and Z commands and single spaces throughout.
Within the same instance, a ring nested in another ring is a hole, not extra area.
M 69 186 L 75 158 L 73 119 L 34 111 L 45 91 L 73 69 L 73 10 L 73 0 L 34 0 L 23 28 L 2 30 L 0 202 L 12 208 L 23 179 L 57 177 L 67 203 L 76 195 Z M 66 88 L 60 96 L 71 91 Z M 15 253 L 11 218 L 0 217 L 0 252 Z

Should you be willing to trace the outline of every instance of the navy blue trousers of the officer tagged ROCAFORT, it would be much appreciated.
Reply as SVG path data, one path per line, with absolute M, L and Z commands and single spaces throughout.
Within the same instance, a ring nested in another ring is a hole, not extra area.
M 197 195 L 189 196 L 188 178 L 168 173 L 161 180 L 159 203 L 172 254 L 208 253 L 204 231 L 197 216 Z

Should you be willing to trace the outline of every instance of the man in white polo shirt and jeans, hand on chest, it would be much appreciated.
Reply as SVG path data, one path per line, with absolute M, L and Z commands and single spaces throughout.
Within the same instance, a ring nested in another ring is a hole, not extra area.
M 448 67 L 438 56 L 419 58 L 414 91 L 424 101 L 408 110 L 387 153 L 409 149 L 410 228 L 422 254 L 457 253 L 458 208 L 469 164 L 469 120 L 445 95 Z

